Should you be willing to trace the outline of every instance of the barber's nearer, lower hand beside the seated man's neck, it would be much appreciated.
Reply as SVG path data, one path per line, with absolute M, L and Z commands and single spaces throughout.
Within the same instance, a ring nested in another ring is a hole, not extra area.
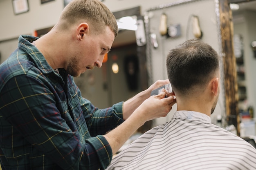
M 176 103 L 176 99 L 173 95 L 169 94 L 167 98 L 166 90 L 162 89 L 162 92 L 155 96 L 150 96 L 135 110 L 136 114 L 139 114 L 141 121 L 150 121 L 159 117 L 165 117 L 172 109 L 172 106 Z M 144 124 L 143 123 L 143 124 Z

